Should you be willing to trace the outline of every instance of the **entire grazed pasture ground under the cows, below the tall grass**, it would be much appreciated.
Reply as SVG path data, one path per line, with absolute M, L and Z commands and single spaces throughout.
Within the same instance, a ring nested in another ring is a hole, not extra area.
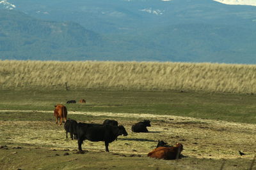
M 256 153 L 255 96 L 147 91 L 0 91 L 1 169 L 249 169 Z M 86 104 L 65 104 L 86 99 Z M 109 144 L 77 141 L 56 125 L 53 106 L 63 103 L 77 122 L 113 118 L 128 136 Z M 131 125 L 151 120 L 149 133 Z M 180 160 L 147 157 L 161 139 L 184 145 Z M 5 146 L 6 145 L 6 146 Z M 8 149 L 7 149 L 8 148 Z M 238 151 L 246 153 L 240 156 Z M 64 155 L 68 153 L 68 155 Z M 254 165 L 255 168 L 256 165 Z

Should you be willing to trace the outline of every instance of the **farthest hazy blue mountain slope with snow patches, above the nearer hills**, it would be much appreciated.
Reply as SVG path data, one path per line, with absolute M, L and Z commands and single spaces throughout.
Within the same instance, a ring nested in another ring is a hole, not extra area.
M 221 0 L 219 0 L 221 1 Z M 223 0 L 225 2 L 227 0 Z M 239 0 L 236 0 L 238 2 Z M 245 0 L 244 0 L 245 1 Z M 239 2 L 244 2 L 240 0 Z M 36 18 L 72 21 L 102 34 L 131 33 L 152 27 L 204 23 L 252 25 L 255 7 L 228 6 L 213 0 L 22 0 L 15 10 Z

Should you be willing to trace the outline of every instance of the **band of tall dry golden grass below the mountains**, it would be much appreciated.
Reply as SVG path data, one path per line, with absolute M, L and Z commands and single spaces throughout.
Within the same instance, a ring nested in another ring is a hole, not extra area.
M 1 89 L 256 92 L 256 66 L 183 62 L 0 60 Z

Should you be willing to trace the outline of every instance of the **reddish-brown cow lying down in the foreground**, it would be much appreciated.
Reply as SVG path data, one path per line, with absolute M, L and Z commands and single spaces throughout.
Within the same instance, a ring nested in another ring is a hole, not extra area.
M 183 150 L 183 145 L 181 143 L 177 143 L 172 147 L 158 147 L 152 152 L 148 153 L 148 157 L 157 158 L 157 159 L 179 159 L 180 152 Z

